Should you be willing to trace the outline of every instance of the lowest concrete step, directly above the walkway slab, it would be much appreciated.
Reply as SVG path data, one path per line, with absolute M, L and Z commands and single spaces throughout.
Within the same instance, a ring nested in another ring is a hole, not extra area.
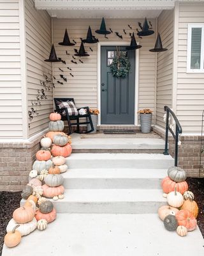
M 53 201 L 57 212 L 156 213 L 166 204 L 159 189 L 66 189 L 64 199 Z

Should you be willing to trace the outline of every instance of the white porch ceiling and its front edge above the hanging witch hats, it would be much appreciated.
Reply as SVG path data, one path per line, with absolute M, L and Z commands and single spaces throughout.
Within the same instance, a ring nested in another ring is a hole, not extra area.
M 35 7 L 59 19 L 154 19 L 175 0 L 34 0 Z

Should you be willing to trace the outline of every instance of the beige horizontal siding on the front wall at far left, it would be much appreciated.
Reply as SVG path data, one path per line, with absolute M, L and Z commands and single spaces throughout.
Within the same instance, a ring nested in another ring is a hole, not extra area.
M 0 1 L 0 138 L 22 138 L 18 0 Z

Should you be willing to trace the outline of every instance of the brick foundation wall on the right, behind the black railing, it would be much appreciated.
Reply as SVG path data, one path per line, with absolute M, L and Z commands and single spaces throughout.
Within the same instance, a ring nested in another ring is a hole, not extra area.
M 157 128 L 153 130 L 165 140 L 164 132 Z M 178 166 L 186 170 L 188 177 L 204 177 L 204 153 L 200 150 L 201 136 L 180 136 L 180 141 Z M 169 153 L 174 157 L 175 141 L 172 136 L 169 136 Z

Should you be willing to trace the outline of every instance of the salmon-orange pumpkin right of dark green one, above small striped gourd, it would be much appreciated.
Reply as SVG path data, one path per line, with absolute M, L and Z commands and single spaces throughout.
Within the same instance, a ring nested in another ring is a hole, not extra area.
M 193 231 L 196 229 L 197 221 L 193 214 L 187 210 L 180 210 L 176 214 L 176 218 L 179 226 L 184 226 L 187 231 Z

